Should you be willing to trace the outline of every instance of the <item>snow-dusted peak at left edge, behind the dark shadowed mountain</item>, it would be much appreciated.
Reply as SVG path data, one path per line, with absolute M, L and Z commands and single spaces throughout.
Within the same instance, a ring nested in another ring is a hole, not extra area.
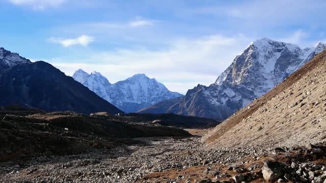
M 31 60 L 19 56 L 18 53 L 12 53 L 0 48 L 0 72 L 18 64 L 31 63 Z

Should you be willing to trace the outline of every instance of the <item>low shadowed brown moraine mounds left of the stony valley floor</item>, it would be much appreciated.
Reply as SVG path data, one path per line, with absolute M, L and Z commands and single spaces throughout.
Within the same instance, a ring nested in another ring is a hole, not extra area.
M 0 118 L 0 163 L 42 157 L 40 155 L 49 157 L 105 151 L 135 141 L 125 138 L 191 136 L 177 128 L 126 123 L 115 115 L 46 113 L 7 106 L 0 107 Z

